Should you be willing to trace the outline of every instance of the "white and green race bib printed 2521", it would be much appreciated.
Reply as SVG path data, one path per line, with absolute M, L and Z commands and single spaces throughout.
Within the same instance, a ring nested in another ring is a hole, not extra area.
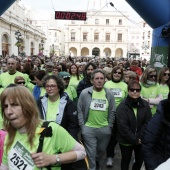
M 8 166 L 9 170 L 33 170 L 34 168 L 30 152 L 18 141 L 9 152 Z

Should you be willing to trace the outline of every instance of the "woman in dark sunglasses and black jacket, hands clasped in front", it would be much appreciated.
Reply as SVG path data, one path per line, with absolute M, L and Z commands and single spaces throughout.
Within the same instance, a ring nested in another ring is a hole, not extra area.
M 140 170 L 143 163 L 141 144 L 152 114 L 148 102 L 140 97 L 141 85 L 137 81 L 128 84 L 128 96 L 116 110 L 117 141 L 121 150 L 121 170 L 128 170 L 132 152 L 133 170 Z

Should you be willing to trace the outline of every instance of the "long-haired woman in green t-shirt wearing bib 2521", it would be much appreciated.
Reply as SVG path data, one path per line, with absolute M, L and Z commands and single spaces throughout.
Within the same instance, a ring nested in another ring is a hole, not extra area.
M 60 164 L 83 159 L 84 148 L 58 124 L 51 122 L 44 137 L 42 152 L 37 153 L 42 120 L 32 94 L 17 85 L 7 87 L 1 94 L 2 117 L 7 131 L 0 169 L 38 170 L 50 166 L 60 170 Z

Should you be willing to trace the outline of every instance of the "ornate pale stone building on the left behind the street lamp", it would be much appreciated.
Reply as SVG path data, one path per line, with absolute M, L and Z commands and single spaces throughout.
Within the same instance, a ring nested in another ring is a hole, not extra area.
M 0 55 L 3 57 L 18 53 L 37 55 L 46 40 L 45 33 L 31 24 L 19 1 L 0 17 L 0 35 Z

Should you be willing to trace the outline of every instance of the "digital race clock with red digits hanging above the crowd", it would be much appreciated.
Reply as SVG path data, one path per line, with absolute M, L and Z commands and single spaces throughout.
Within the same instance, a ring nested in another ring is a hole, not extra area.
M 55 11 L 55 19 L 86 21 L 86 12 Z

